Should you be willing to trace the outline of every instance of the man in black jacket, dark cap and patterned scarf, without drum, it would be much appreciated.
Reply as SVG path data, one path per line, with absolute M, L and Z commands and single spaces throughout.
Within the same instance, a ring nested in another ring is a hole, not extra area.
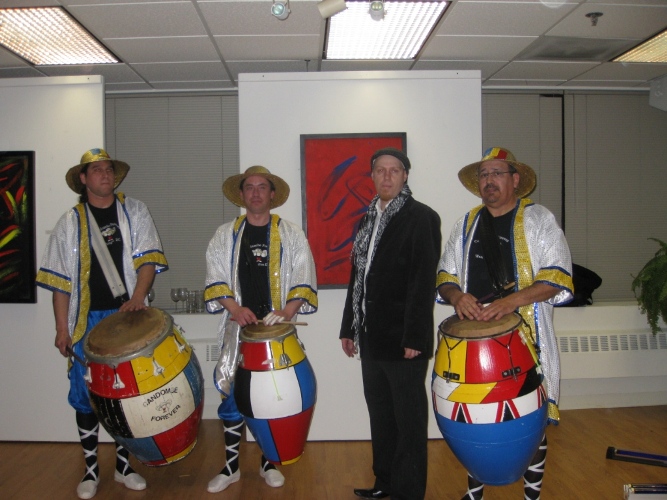
M 423 499 L 440 217 L 407 185 L 410 160 L 386 148 L 371 158 L 377 196 L 361 220 L 340 329 L 343 351 L 361 357 L 375 484 L 362 498 Z

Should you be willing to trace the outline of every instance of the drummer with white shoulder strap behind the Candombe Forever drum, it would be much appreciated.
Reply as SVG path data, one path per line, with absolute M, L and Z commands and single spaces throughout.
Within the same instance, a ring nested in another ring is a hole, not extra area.
M 112 160 L 106 151 L 96 148 L 86 151 L 65 176 L 67 185 L 79 195 L 79 204 L 56 224 L 37 273 L 37 284 L 53 291 L 55 345 L 63 356 L 74 352 L 83 358 L 83 340 L 106 316 L 145 309 L 155 273 L 167 270 L 146 205 L 115 193 L 129 170 L 127 163 Z M 78 362 L 70 366 L 68 400 L 76 410 L 86 462 L 77 494 L 92 498 L 99 484 L 99 422 L 88 399 L 85 371 Z M 146 488 L 144 478 L 130 467 L 127 450 L 119 444 L 114 479 L 132 490 Z

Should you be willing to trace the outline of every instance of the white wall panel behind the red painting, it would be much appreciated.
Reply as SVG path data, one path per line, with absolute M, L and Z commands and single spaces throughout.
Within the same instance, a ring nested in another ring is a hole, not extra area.
M 297 224 L 301 134 L 406 132 L 408 183 L 440 214 L 443 240 L 479 202 L 456 177 L 481 157 L 478 71 L 242 74 L 239 124 L 241 170 L 264 165 L 283 177 L 291 195 L 276 213 Z M 318 312 L 300 318 L 309 323 L 298 331 L 318 382 L 309 439 L 370 437 L 360 363 L 343 354 L 338 340 L 344 300 L 345 290 L 320 290 Z M 450 314 L 436 306 L 436 324 Z M 433 416 L 429 433 L 440 436 Z

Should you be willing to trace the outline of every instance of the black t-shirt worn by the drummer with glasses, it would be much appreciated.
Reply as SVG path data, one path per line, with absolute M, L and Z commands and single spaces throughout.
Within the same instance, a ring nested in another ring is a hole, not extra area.
M 510 276 L 512 276 L 514 270 L 511 240 L 513 219 L 514 210 L 499 217 L 493 217 L 493 228 L 500 241 L 500 254 L 505 263 L 505 269 L 508 270 Z M 482 242 L 478 236 L 480 224 L 481 221 L 478 221 L 470 244 L 470 258 L 468 260 L 468 293 L 474 295 L 477 299 L 486 297 L 494 291 L 491 276 L 484 261 Z M 488 303 L 493 302 L 493 300 L 495 298 L 486 299 L 483 302 Z

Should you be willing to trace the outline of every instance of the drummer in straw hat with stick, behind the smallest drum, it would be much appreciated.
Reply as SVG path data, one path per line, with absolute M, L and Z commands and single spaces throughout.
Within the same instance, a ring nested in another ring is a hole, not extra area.
M 317 311 L 315 262 L 301 228 L 271 209 L 289 196 L 289 186 L 262 166 L 229 177 L 222 186 L 229 201 L 246 214 L 218 228 L 206 252 L 207 310 L 222 313 L 218 327 L 220 359 L 215 384 L 222 393 L 218 415 L 225 428 L 226 463 L 208 483 L 217 493 L 241 477 L 238 455 L 243 416 L 234 400 L 239 334 L 248 324 L 273 325 L 297 313 Z M 274 488 L 282 473 L 262 455 L 259 474 Z

